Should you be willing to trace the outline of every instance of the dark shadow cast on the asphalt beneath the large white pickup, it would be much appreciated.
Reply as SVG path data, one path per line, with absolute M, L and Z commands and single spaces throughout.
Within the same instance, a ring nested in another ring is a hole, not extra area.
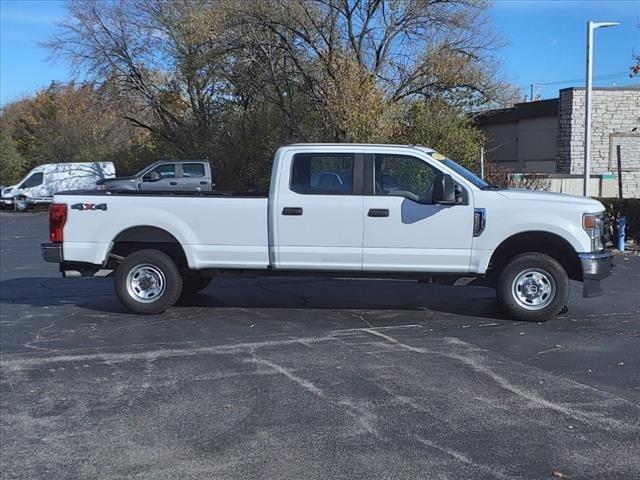
M 109 278 L 15 278 L 0 282 L 4 305 L 78 306 L 100 313 L 127 314 Z M 181 298 L 174 309 L 326 309 L 435 311 L 507 319 L 495 292 L 483 287 L 424 285 L 412 281 L 323 278 L 214 279 L 201 293 Z

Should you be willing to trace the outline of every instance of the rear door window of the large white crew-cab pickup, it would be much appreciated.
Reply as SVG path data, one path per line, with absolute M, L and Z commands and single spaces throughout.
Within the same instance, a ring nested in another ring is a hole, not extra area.
M 291 190 L 305 195 L 353 194 L 352 153 L 299 153 L 293 157 Z

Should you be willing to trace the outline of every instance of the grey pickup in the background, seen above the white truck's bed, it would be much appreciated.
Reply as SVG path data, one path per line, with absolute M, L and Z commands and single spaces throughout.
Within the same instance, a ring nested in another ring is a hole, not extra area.
M 211 164 L 207 160 L 160 160 L 130 177 L 108 178 L 97 183 L 98 190 L 148 190 L 157 192 L 210 192 L 213 189 Z

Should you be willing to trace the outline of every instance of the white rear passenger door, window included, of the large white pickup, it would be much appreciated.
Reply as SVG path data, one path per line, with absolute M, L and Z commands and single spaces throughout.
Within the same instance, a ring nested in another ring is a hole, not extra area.
M 279 269 L 362 269 L 362 153 L 288 151 L 273 219 Z

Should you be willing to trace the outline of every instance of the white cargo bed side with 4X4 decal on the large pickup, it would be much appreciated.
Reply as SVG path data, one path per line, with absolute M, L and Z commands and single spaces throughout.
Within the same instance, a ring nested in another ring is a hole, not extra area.
M 173 236 L 193 269 L 269 265 L 269 200 L 263 193 L 92 190 L 59 193 L 54 202 L 68 206 L 65 260 L 101 264 L 114 234 L 117 242 L 128 230 L 143 228 Z

